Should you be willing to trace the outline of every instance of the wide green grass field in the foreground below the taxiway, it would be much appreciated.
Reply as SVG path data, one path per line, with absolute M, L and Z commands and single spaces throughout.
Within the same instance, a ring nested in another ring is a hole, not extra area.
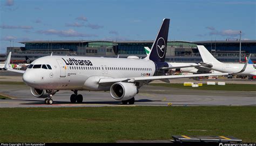
M 1 108 L 1 142 L 169 140 L 171 135 L 224 135 L 256 142 L 256 108 Z

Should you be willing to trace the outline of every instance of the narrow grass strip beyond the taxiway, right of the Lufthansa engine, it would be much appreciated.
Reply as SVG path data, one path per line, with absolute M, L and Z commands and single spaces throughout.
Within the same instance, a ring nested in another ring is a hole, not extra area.
M 206 85 L 199 87 L 184 86 L 183 84 L 166 84 L 166 83 L 151 83 L 152 86 L 165 86 L 181 89 L 195 89 L 195 90 L 222 90 L 222 91 L 256 91 L 256 84 L 226 84 L 221 85 Z

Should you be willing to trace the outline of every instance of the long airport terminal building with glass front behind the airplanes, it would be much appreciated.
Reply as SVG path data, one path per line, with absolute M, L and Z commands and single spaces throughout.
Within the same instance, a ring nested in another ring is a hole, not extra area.
M 98 57 L 127 57 L 136 55 L 145 57 L 144 47 L 151 47 L 153 41 L 24 41 L 24 47 L 7 47 L 6 54 L 12 52 L 12 60 L 35 60 L 42 56 L 78 55 Z M 239 62 L 240 41 L 168 41 L 166 61 L 170 62 L 200 62 L 201 57 L 197 45 L 204 45 L 221 62 Z M 252 54 L 256 60 L 256 40 L 241 41 L 242 56 Z M 6 54 L 0 54 L 0 60 L 6 59 Z M 242 61 L 244 57 L 242 57 Z

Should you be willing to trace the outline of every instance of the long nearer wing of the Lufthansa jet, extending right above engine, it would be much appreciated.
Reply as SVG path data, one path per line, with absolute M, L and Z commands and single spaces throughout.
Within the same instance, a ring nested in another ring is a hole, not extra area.
M 116 83 L 116 82 L 131 82 L 132 83 L 132 82 L 139 82 L 139 81 L 153 81 L 153 80 L 161 80 L 161 79 L 191 78 L 191 77 L 203 77 L 203 76 L 224 76 L 224 75 L 228 75 L 228 73 L 150 76 L 150 77 L 134 77 L 134 78 L 102 78 L 102 79 L 99 79 L 99 84 Z

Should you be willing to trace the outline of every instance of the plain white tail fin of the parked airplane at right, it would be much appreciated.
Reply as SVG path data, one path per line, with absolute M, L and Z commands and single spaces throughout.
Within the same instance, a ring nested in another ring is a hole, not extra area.
M 205 48 L 205 46 L 198 45 L 197 48 L 204 63 L 221 63 L 212 56 L 212 54 Z

